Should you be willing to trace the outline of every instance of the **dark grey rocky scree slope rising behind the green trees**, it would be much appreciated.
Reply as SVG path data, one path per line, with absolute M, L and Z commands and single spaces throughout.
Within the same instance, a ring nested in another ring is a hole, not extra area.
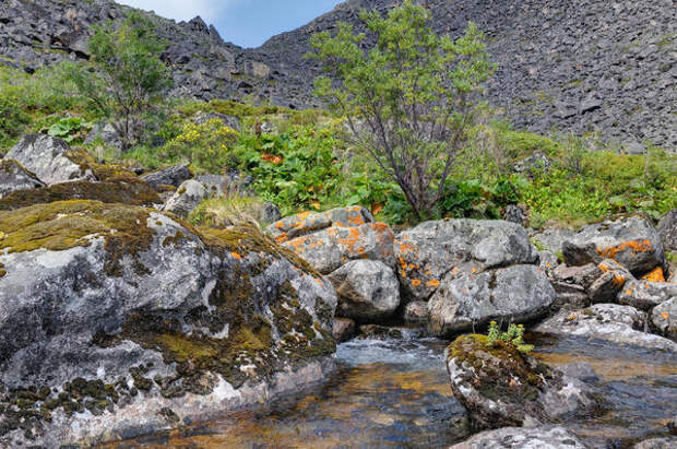
M 154 16 L 170 46 L 164 59 L 175 94 L 200 98 L 252 95 L 290 107 L 318 106 L 317 62 L 305 59 L 310 36 L 336 22 L 359 25 L 361 8 L 385 12 L 394 0 L 349 0 L 308 25 L 256 49 L 224 43 L 199 17 Z M 673 0 L 427 0 L 433 26 L 459 36 L 467 21 L 488 37 L 498 71 L 490 104 L 534 132 L 597 132 L 640 152 L 645 141 L 677 147 L 677 8 Z M 108 0 L 4 0 L 0 62 L 34 70 L 86 58 L 87 27 L 121 17 Z

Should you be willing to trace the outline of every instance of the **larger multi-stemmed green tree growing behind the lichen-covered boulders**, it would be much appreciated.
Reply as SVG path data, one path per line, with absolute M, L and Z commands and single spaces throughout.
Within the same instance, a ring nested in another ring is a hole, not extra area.
M 329 75 L 316 93 L 347 117 L 351 142 L 400 186 L 416 217 L 431 216 L 474 122 L 473 96 L 492 70 L 483 35 L 471 23 L 456 40 L 439 36 L 411 0 L 387 17 L 360 19 L 376 37 L 368 50 L 347 23 L 335 36 L 313 35 L 309 56 Z

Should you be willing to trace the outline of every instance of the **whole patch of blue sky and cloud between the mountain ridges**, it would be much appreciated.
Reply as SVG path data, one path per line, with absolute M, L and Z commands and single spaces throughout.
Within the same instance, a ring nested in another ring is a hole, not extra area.
M 342 0 L 117 0 L 178 21 L 200 15 L 226 42 L 259 47 L 270 37 L 298 28 Z

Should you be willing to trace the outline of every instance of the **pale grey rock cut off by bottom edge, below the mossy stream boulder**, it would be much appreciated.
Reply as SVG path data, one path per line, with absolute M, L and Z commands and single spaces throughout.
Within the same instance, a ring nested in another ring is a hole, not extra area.
M 485 430 L 450 449 L 585 449 L 583 444 L 565 427 L 503 427 Z

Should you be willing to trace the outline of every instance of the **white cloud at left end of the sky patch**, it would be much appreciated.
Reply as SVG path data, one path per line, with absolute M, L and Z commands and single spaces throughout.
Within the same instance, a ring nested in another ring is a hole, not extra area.
M 177 21 L 188 21 L 200 15 L 207 24 L 216 21 L 238 0 L 118 0 L 119 3 L 155 11 L 156 14 Z

